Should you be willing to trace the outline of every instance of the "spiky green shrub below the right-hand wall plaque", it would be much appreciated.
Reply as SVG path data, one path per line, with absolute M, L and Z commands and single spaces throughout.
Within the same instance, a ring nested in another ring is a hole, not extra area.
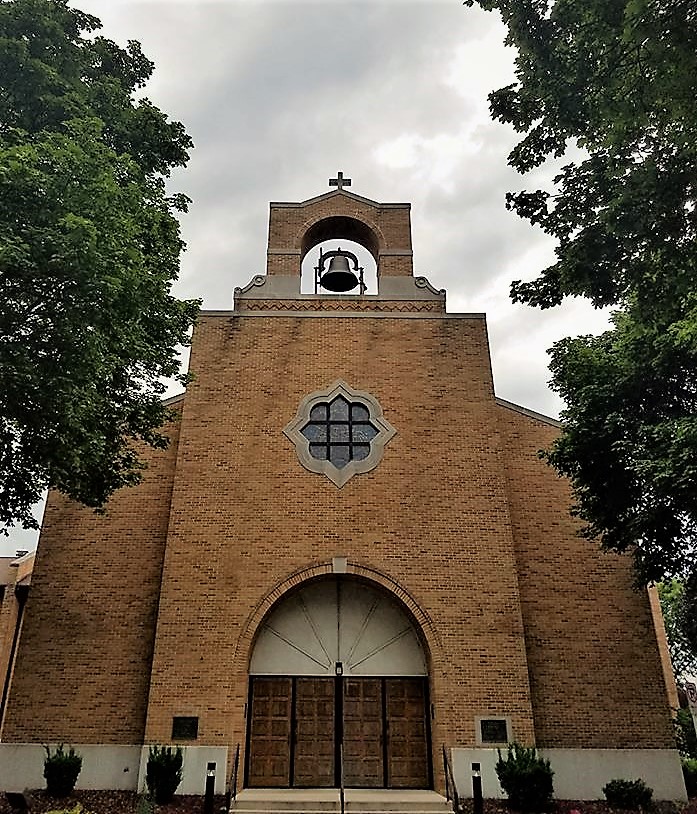
M 554 772 L 549 760 L 540 757 L 534 746 L 512 743 L 504 758 L 498 750 L 496 774 L 508 802 L 519 811 L 540 811 L 549 805 L 554 792 Z

